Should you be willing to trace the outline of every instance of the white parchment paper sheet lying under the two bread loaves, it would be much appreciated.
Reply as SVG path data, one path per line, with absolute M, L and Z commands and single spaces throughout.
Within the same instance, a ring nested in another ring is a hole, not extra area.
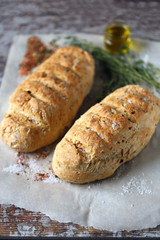
M 101 36 L 79 36 L 97 45 L 103 44 Z M 49 42 L 54 37 L 43 35 L 41 39 Z M 25 53 L 27 38 L 28 36 L 15 37 L 11 47 L 0 90 L 0 120 L 9 106 L 10 94 L 22 81 L 18 77 L 18 66 Z M 160 43 L 137 40 L 137 44 L 143 59 L 160 66 Z M 92 98 L 94 95 L 91 94 L 90 99 Z M 73 222 L 110 231 L 155 227 L 160 224 L 159 143 L 160 124 L 141 154 L 122 165 L 114 176 L 79 186 L 54 177 L 52 181 L 33 180 L 33 173 L 41 171 L 41 164 L 44 164 L 42 168 L 45 169 L 51 166 L 53 151 L 47 158 L 37 162 L 31 154 L 28 160 L 30 172 L 27 170 L 27 175 L 17 175 L 13 170 L 17 154 L 0 140 L 0 203 L 39 211 L 60 222 Z M 54 146 L 51 147 L 54 149 Z

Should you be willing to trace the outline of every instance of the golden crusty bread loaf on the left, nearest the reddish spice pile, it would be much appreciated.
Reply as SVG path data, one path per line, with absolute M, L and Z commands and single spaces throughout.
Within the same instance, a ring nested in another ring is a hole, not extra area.
M 72 124 L 94 76 L 92 56 L 78 47 L 59 48 L 10 97 L 0 136 L 19 152 L 54 142 Z

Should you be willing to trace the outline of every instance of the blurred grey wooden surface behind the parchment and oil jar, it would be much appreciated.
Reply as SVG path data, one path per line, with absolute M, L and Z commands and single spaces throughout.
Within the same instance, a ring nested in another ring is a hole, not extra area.
M 160 1 L 136 0 L 0 0 L 0 77 L 17 34 L 103 34 L 121 20 L 132 36 L 160 39 Z

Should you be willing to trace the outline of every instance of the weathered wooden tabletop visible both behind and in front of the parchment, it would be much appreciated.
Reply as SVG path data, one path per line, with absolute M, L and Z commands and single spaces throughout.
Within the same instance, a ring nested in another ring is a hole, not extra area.
M 0 78 L 15 35 L 103 34 L 105 26 L 114 20 L 128 23 L 132 36 L 160 39 L 160 2 L 156 0 L 1 0 Z M 41 213 L 0 205 L 0 236 L 160 237 L 160 226 L 113 234 L 73 223 L 61 224 Z

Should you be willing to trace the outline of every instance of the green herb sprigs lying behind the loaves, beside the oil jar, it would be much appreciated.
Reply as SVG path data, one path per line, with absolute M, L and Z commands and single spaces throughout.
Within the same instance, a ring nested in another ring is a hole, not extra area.
M 78 46 L 90 52 L 99 64 L 104 65 L 110 76 L 105 84 L 105 95 L 127 84 L 144 84 L 160 92 L 160 69 L 153 64 L 137 60 L 131 52 L 113 55 L 105 49 L 75 36 L 68 36 L 66 40 L 70 46 Z

